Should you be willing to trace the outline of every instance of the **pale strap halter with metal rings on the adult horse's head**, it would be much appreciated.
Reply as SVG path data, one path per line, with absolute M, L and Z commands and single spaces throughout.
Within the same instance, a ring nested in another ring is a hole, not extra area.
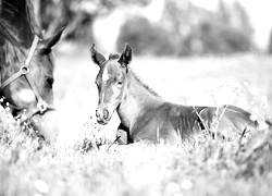
M 17 79 L 21 76 L 24 76 L 26 78 L 27 83 L 29 84 L 29 86 L 30 86 L 36 99 L 37 99 L 37 106 L 33 110 L 27 111 L 26 114 L 24 114 L 24 117 L 22 117 L 21 123 L 29 120 L 30 118 L 33 118 L 37 113 L 44 114 L 48 110 L 55 110 L 53 105 L 50 105 L 50 103 L 47 103 L 46 101 L 44 101 L 44 99 L 40 97 L 36 86 L 34 85 L 33 81 L 29 78 L 29 75 L 28 75 L 28 73 L 30 72 L 30 68 L 29 68 L 30 61 L 32 61 L 34 52 L 38 46 L 38 42 L 39 42 L 39 38 L 38 38 L 38 36 L 35 35 L 34 40 L 32 42 L 29 53 L 25 60 L 25 63 L 21 65 L 20 70 L 14 75 L 12 75 L 5 82 L 3 82 L 3 84 L 0 87 L 0 93 L 2 93 L 2 90 L 8 85 L 10 85 L 12 82 L 14 82 L 15 79 Z M 17 108 L 16 106 L 13 106 L 13 107 Z

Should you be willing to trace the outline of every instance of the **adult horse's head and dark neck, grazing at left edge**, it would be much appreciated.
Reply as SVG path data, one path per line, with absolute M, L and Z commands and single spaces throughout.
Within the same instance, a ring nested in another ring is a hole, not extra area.
M 0 94 L 13 115 L 29 120 L 39 135 L 58 134 L 53 112 L 53 57 L 51 48 L 61 29 L 44 39 L 35 24 L 30 0 L 0 0 Z

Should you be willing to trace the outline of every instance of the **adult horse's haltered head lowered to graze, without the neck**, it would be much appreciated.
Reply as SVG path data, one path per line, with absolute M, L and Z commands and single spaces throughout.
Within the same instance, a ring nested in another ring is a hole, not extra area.
M 0 47 L 0 94 L 4 102 L 9 102 L 14 115 L 22 114 L 22 122 L 29 120 L 39 135 L 49 140 L 59 132 L 55 112 L 52 112 L 54 62 L 51 49 L 62 32 L 48 39 L 34 36 L 27 47 L 18 47 L 12 39 Z

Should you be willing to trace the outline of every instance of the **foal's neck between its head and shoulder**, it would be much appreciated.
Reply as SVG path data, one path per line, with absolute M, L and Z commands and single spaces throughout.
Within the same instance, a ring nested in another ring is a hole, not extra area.
M 146 113 L 146 110 L 159 106 L 163 101 L 144 86 L 134 73 L 128 71 L 127 77 L 127 89 L 118 113 L 122 124 L 131 128 L 137 118 Z

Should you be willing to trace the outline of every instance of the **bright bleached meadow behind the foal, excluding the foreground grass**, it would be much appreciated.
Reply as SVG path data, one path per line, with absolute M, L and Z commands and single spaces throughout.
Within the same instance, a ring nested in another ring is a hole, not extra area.
M 133 70 L 163 99 L 181 105 L 221 106 L 231 103 L 259 118 L 270 118 L 272 103 L 272 58 L 245 54 L 221 58 L 134 58 Z M 97 107 L 95 78 L 99 68 L 88 48 L 57 54 L 54 96 L 63 139 L 70 140 L 94 125 Z M 114 137 L 119 119 L 107 130 Z M 114 127 L 114 128 L 112 128 Z

